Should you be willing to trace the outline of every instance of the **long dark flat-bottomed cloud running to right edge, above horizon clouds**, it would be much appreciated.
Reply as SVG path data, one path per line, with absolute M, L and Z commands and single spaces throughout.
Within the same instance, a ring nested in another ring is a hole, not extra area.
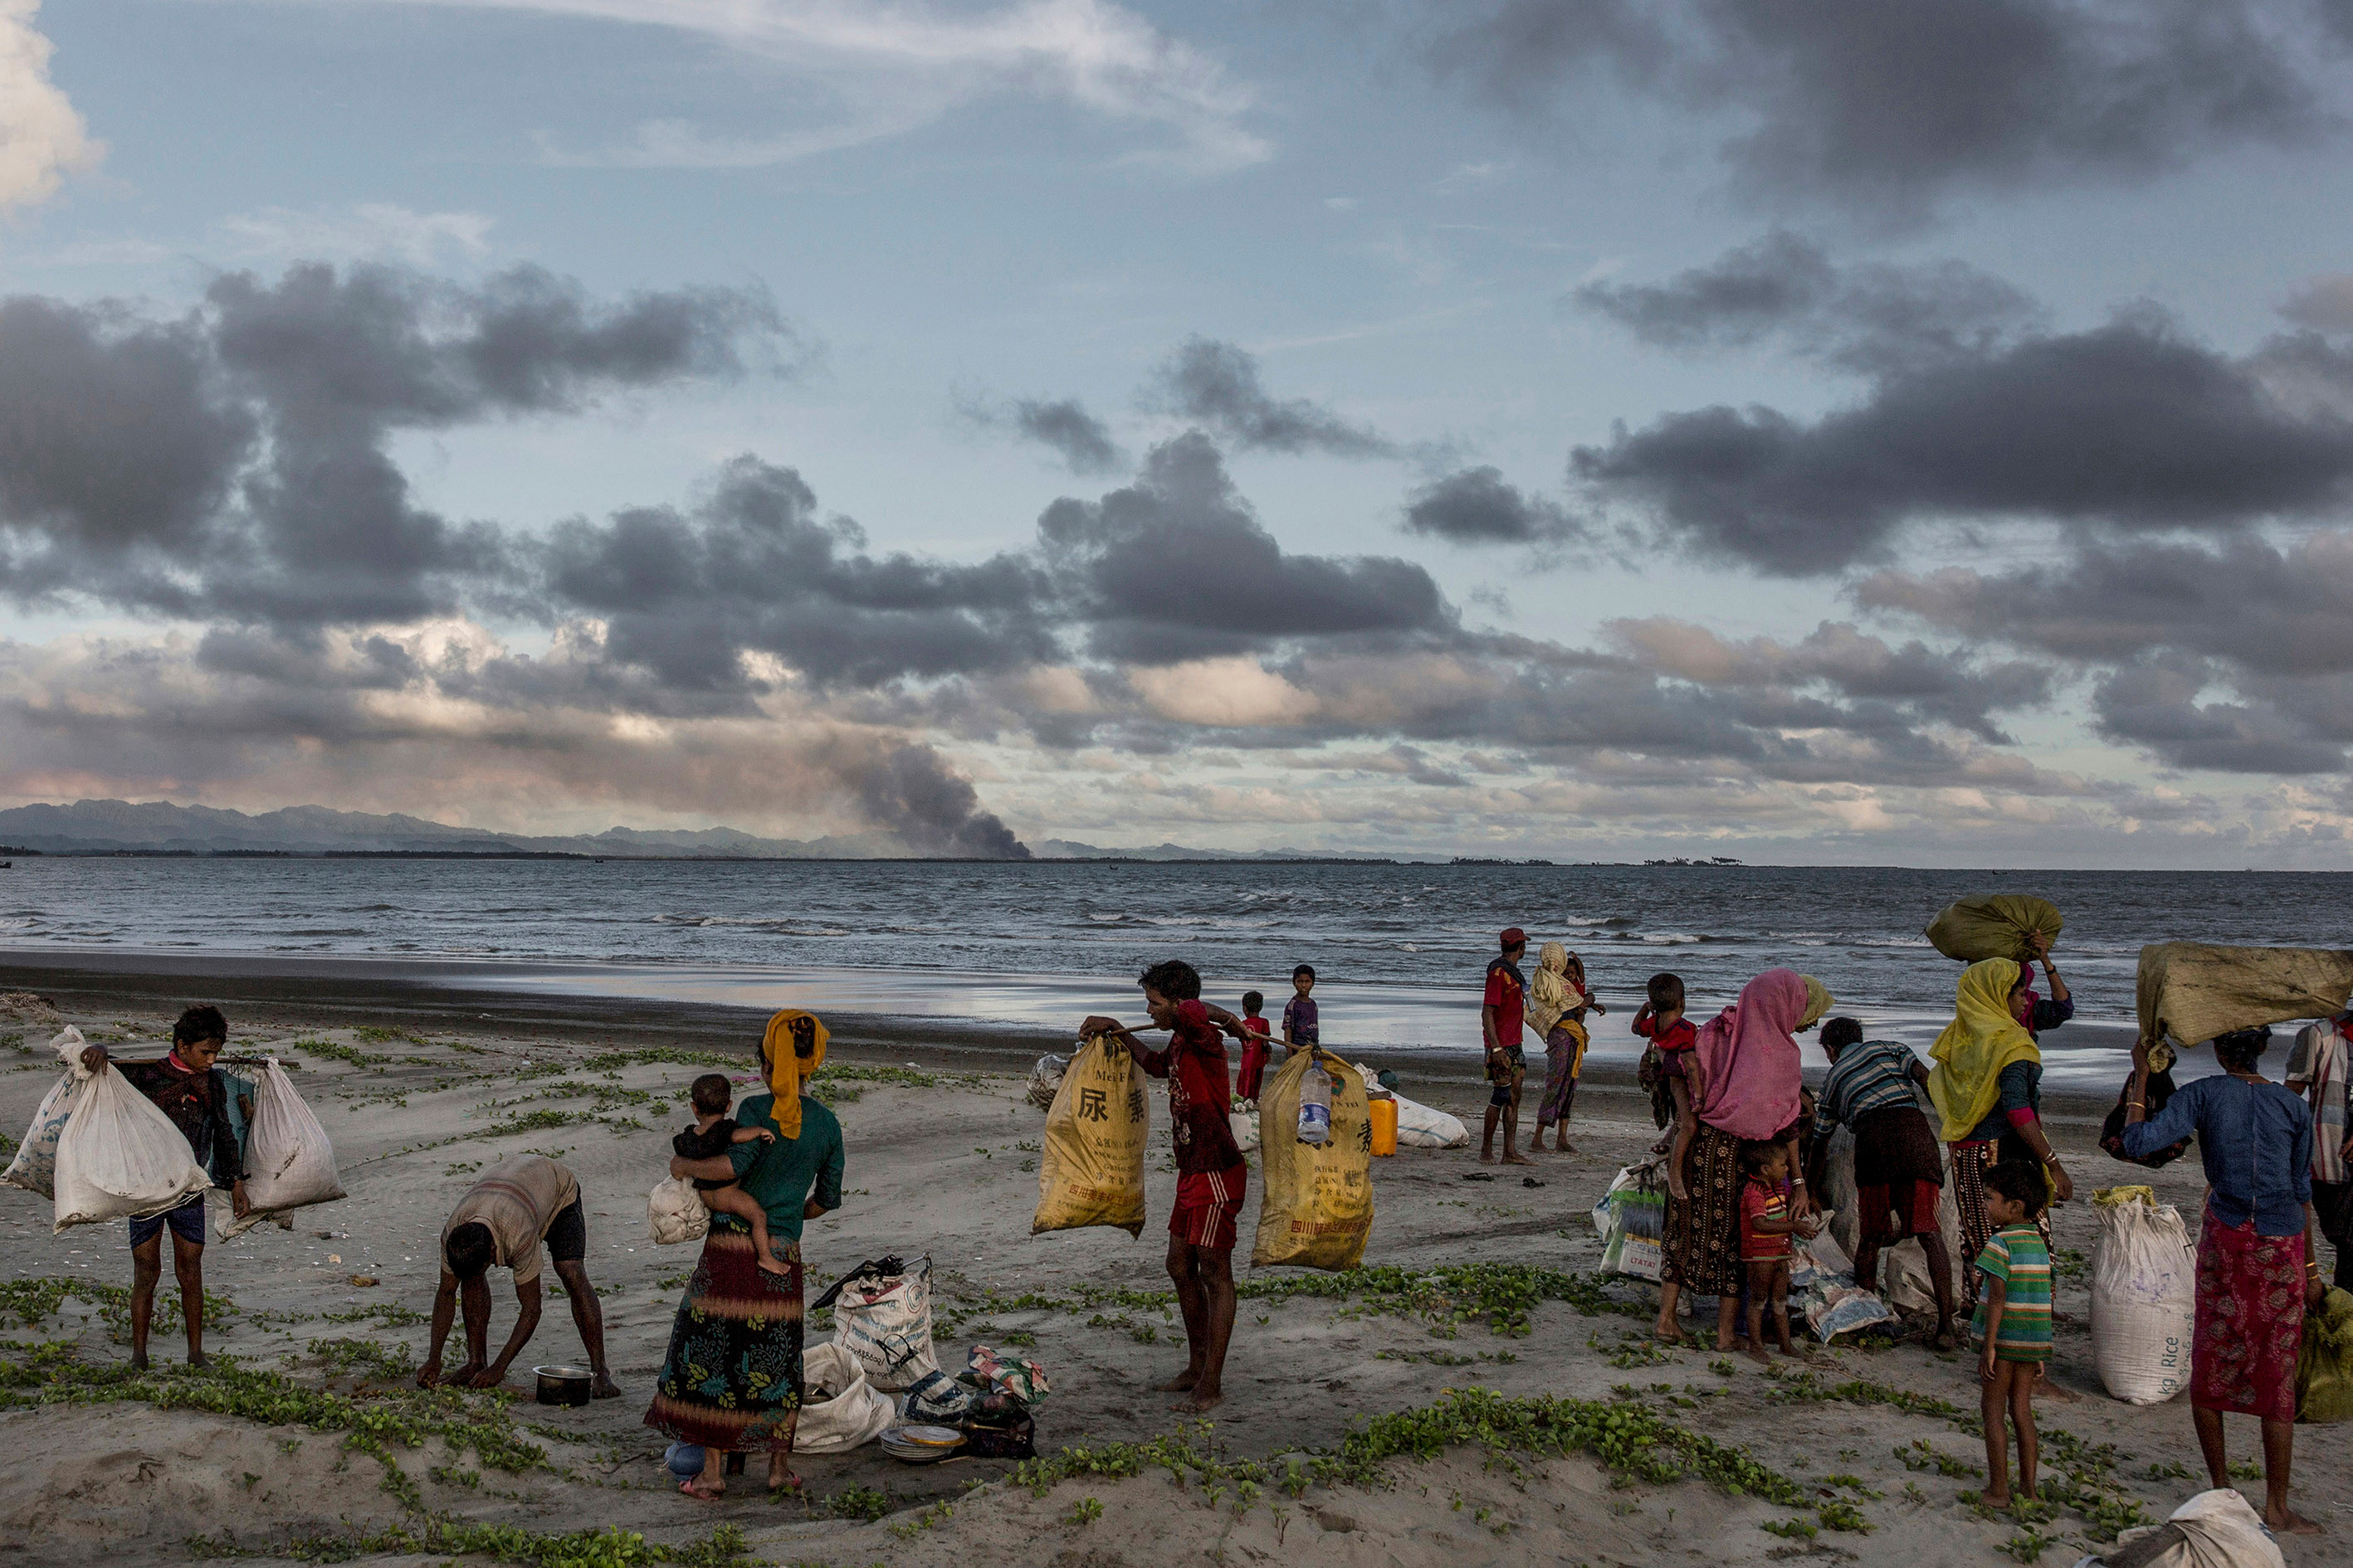
M 2322 512 L 2353 482 L 2348 393 L 2353 357 L 2318 336 L 2233 360 L 2141 308 L 1894 369 L 1814 421 L 1666 414 L 1569 468 L 1704 555 L 1798 576 L 1880 557 L 1927 517 L 2238 529 Z

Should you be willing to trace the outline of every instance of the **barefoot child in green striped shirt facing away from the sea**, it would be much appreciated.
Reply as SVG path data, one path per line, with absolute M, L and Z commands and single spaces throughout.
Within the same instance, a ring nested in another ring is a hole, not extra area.
M 2035 1410 L 2033 1389 L 2042 1363 L 2052 1356 L 2052 1255 L 2042 1246 L 2035 1218 L 2049 1187 L 2042 1168 L 2005 1159 L 1986 1171 L 1986 1218 L 1993 1237 L 1977 1255 L 1984 1291 L 1977 1298 L 1977 1331 L 1984 1349 L 1977 1375 L 1984 1389 L 1986 1418 L 1986 1507 L 2009 1507 L 2009 1432 L 2002 1413 L 2019 1429 L 2019 1490 L 2035 1495 Z

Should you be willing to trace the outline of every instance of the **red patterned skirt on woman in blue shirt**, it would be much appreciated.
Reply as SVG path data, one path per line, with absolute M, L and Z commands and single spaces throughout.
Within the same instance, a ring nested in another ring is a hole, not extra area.
M 2198 1232 L 2198 1331 L 2191 1403 L 2264 1420 L 2297 1420 L 2304 1347 L 2304 1234 L 2259 1237 L 2207 1208 Z

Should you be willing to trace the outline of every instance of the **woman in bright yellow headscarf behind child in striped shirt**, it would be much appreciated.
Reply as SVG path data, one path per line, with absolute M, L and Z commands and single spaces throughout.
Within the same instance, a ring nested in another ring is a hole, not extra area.
M 2042 1135 L 2042 1051 L 2019 1023 L 2017 992 L 2031 983 L 2017 959 L 1984 959 L 1960 971 L 1953 1023 L 1944 1025 L 1929 1060 L 1927 1098 L 1944 1119 L 1939 1138 L 1953 1145 L 1953 1206 L 1960 1211 L 1960 1279 L 1977 1309 L 1977 1255 L 1993 1234 L 1986 1218 L 1986 1166 L 2031 1159 L 2042 1166 L 2052 1197 L 2075 1197 L 2075 1182 Z M 2049 1208 L 2042 1241 L 2049 1244 Z

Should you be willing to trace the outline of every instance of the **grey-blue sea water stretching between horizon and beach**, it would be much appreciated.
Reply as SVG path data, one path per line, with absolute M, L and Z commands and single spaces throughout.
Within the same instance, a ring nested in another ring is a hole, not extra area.
M 38 856 L 0 872 L 0 950 L 461 961 L 452 983 L 1045 1030 L 1141 1020 L 1134 978 L 1165 957 L 1214 1001 L 1259 990 L 1280 1016 L 1292 966 L 1313 964 L 1327 1046 L 1475 1056 L 1497 931 L 1525 926 L 1529 964 L 1544 940 L 1584 954 L 1609 1006 L 1593 1051 L 1633 1060 L 1654 971 L 1680 973 L 1704 1018 L 1774 964 L 1821 978 L 1873 1037 L 1927 1046 L 1958 964 L 1922 929 L 1986 891 L 2066 914 L 2078 1016 L 2045 1060 L 2085 1086 L 2122 1074 L 2141 943 L 2334 947 L 2353 924 L 2339 872 Z M 2200 1070 L 2193 1053 L 2181 1072 Z

